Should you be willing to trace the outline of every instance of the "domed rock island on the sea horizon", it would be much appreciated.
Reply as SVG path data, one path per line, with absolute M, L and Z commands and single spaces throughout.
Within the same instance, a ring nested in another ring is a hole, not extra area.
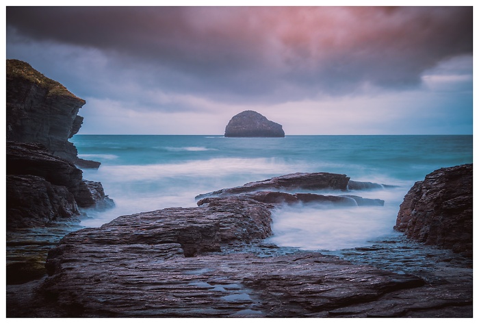
M 268 121 L 262 114 L 245 110 L 229 121 L 224 137 L 285 137 L 285 132 L 283 126 Z

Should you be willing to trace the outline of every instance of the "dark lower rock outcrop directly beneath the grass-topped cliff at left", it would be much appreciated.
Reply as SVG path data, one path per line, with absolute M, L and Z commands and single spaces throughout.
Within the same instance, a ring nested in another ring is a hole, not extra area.
M 36 227 L 76 219 L 80 208 L 113 204 L 99 182 L 40 144 L 7 142 L 7 227 Z

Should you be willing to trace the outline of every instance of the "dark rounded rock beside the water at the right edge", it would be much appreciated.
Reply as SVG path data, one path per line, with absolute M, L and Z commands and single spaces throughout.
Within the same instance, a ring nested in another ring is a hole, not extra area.
M 472 202 L 472 164 L 439 169 L 409 190 L 394 228 L 472 258 Z

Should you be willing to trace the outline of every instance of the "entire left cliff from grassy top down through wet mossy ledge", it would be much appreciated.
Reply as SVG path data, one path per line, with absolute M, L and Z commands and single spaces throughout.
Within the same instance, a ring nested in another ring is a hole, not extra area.
M 77 134 L 83 99 L 26 62 L 6 62 L 7 283 L 45 273 L 47 247 L 77 229 L 85 208 L 114 204 L 99 182 L 83 179 L 68 139 Z

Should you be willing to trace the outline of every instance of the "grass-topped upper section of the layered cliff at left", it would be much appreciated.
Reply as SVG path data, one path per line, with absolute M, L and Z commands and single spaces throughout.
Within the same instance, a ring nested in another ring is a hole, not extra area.
M 68 138 L 83 123 L 77 114 L 85 101 L 19 60 L 7 60 L 6 83 L 7 140 L 40 143 L 53 155 L 76 163 L 77 148 Z M 82 165 L 97 168 L 99 162 Z

